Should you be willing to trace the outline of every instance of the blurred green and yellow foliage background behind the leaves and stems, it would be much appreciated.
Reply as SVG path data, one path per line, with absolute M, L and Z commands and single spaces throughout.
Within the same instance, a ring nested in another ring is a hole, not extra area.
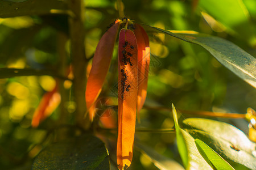
M 86 57 L 94 54 L 96 45 L 108 25 L 118 18 L 115 1 L 84 1 L 86 12 Z M 124 0 L 125 15 L 136 23 L 170 30 L 193 30 L 222 37 L 256 56 L 256 2 L 243 1 L 164 1 Z M 1 14 L 1 11 L 0 11 Z M 146 30 L 147 31 L 147 30 Z M 151 63 L 145 108 L 175 107 L 185 110 L 246 113 L 256 108 L 255 88 L 222 66 L 198 45 L 189 44 L 162 33 L 147 32 L 150 37 Z M 56 73 L 70 63 L 68 16 L 58 14 L 0 18 L 0 66 L 9 68 L 49 69 Z M 61 43 L 66 42 L 67 43 Z M 63 50 L 64 57 L 60 55 Z M 110 73 L 117 69 L 114 52 Z M 109 75 L 111 76 L 111 75 Z M 117 79 L 117 76 L 116 76 Z M 31 128 L 31 119 L 42 95 L 55 87 L 51 76 L 15 76 L 0 79 L 0 167 L 30 169 L 32 158 L 54 139 L 44 140 L 52 122 L 59 120 L 63 109 L 73 118 L 72 90 L 67 105 L 58 108 L 39 128 Z M 116 82 L 107 82 L 114 87 Z M 113 91 L 103 91 L 115 96 Z M 171 111 L 171 109 L 170 109 Z M 173 128 L 170 111 L 143 109 L 137 128 Z M 117 113 L 115 113 L 117 114 Z M 184 117 L 193 115 L 183 114 Z M 224 120 L 224 119 L 222 119 Z M 245 121 L 224 120 L 247 130 Z M 174 133 L 137 132 L 137 141 L 159 154 L 181 163 Z M 115 146 L 109 146 L 114 160 Z M 130 169 L 158 169 L 136 147 Z

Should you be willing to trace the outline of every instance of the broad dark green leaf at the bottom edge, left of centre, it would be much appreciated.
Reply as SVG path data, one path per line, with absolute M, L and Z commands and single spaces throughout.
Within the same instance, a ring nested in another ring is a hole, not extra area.
M 36 156 L 32 169 L 110 169 L 104 143 L 83 135 L 53 143 Z

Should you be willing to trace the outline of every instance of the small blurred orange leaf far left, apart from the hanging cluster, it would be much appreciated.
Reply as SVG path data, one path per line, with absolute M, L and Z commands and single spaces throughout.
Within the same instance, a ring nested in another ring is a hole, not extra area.
M 52 114 L 52 112 L 60 104 L 60 94 L 57 92 L 57 84 L 55 88 L 43 95 L 38 108 L 34 112 L 31 125 L 33 128 L 38 127 L 46 117 Z

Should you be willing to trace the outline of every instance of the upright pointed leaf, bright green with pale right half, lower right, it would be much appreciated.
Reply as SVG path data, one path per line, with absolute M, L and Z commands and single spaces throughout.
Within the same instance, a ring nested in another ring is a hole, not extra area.
M 177 112 L 173 104 L 172 114 L 176 129 L 177 147 L 186 169 L 212 169 L 197 150 L 195 139 L 179 127 Z

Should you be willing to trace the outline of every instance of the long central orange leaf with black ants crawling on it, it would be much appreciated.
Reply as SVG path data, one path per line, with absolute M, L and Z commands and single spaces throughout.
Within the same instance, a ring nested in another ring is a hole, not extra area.
M 117 164 L 129 167 L 133 159 L 138 91 L 138 49 L 131 30 L 119 33 Z

